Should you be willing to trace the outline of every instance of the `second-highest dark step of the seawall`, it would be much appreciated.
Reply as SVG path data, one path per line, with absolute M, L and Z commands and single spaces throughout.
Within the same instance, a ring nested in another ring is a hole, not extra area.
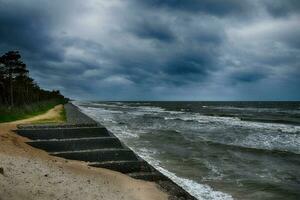
M 121 142 L 116 137 L 35 140 L 27 142 L 27 144 L 48 152 L 123 148 Z

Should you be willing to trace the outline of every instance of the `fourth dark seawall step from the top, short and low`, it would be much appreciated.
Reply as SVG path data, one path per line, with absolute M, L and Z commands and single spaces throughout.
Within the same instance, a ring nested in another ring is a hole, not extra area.
M 155 169 L 143 160 L 121 160 L 121 161 L 106 161 L 106 162 L 91 162 L 89 166 L 101 167 L 121 173 L 132 172 L 152 172 Z

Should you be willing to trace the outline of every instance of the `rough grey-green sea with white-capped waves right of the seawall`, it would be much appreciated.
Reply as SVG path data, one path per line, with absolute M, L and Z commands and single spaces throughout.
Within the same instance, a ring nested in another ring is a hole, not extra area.
M 198 199 L 300 199 L 300 102 L 75 102 Z

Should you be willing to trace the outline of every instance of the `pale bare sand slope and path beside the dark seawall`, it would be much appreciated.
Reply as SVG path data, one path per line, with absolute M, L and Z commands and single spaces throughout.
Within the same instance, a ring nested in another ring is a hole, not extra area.
M 17 124 L 55 119 L 60 109 L 58 106 L 43 115 L 0 124 L 0 200 L 168 198 L 155 183 L 49 156 L 11 131 Z

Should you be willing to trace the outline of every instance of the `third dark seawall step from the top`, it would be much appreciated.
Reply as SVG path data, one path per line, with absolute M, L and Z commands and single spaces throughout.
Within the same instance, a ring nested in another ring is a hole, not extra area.
M 138 160 L 130 149 L 93 149 L 83 151 L 52 152 L 53 156 L 87 162 L 104 162 L 117 160 Z

